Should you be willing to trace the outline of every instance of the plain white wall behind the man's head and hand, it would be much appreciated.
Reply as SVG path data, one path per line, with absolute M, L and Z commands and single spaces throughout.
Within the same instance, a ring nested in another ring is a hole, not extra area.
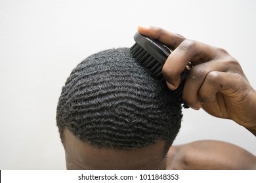
M 137 25 L 228 50 L 256 88 L 256 1 L 0 0 L 0 169 L 66 168 L 55 121 L 61 88 L 87 56 L 132 46 Z M 175 144 L 215 139 L 256 154 L 244 127 L 183 113 Z

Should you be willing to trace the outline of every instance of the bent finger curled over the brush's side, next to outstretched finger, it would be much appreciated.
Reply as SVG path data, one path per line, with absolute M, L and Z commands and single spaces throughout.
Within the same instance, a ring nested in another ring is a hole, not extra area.
M 211 61 L 215 56 L 215 47 L 186 39 L 167 58 L 162 69 L 163 76 L 169 84 L 173 85 L 173 88 L 178 88 L 181 73 L 189 62 L 197 65 Z

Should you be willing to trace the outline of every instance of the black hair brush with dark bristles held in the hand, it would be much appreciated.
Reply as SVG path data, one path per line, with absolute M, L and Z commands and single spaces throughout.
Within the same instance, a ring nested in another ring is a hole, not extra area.
M 152 76 L 158 78 L 161 82 L 165 82 L 165 78 L 161 72 L 163 64 L 165 63 L 172 50 L 162 42 L 156 39 L 150 39 L 140 33 L 134 35 L 135 44 L 131 47 L 130 52 L 133 58 L 139 63 L 150 70 Z M 181 73 L 181 84 L 176 90 L 169 90 L 178 101 L 182 101 L 182 90 L 186 80 L 186 75 L 190 71 L 192 65 L 188 63 L 186 68 Z M 188 108 L 188 105 L 183 104 L 184 108 Z

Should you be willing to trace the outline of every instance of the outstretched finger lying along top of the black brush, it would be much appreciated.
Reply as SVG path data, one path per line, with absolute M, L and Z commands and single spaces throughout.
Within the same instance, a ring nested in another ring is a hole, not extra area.
M 171 33 L 166 31 L 160 27 L 138 27 L 139 33 L 142 35 L 146 35 L 152 39 L 158 39 L 159 41 L 163 42 L 164 44 L 168 44 L 173 50 L 181 44 L 185 38 L 182 35 Z

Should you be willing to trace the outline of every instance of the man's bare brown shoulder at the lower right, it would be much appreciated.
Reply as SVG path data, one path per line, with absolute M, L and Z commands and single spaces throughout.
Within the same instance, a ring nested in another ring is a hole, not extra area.
M 171 146 L 167 169 L 256 169 L 256 156 L 222 141 L 195 141 Z

